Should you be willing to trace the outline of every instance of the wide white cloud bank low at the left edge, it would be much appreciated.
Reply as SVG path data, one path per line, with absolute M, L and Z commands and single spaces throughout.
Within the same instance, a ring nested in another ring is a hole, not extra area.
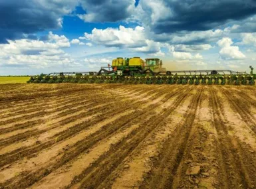
M 63 48 L 70 46 L 68 38 L 49 32 L 48 40 L 19 39 L 0 44 L 0 62 L 4 66 L 26 66 L 45 68 L 47 66 L 76 64 Z

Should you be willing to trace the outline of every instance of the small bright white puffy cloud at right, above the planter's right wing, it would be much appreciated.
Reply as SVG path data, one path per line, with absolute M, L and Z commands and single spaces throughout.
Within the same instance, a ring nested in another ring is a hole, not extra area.
M 231 46 L 233 44 L 231 38 L 224 37 L 218 40 L 217 44 L 221 47 L 219 55 L 224 60 L 239 60 L 245 58 L 245 54 L 239 51 L 238 46 Z

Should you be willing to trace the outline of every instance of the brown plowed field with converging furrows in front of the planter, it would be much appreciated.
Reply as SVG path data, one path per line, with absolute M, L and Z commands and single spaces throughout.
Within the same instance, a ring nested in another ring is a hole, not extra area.
M 0 188 L 256 188 L 256 88 L 0 86 Z

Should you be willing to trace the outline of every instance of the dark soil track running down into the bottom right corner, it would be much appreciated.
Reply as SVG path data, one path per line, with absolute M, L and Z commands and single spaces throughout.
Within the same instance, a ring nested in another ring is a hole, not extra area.
M 248 167 L 245 166 L 245 162 L 254 162 L 254 160 L 249 157 L 242 157 L 244 153 L 243 150 L 237 148 L 237 139 L 231 137 L 229 130 L 225 125 L 227 121 L 225 121 L 225 117 L 223 117 L 221 113 L 221 103 L 217 100 L 217 94 L 212 89 L 210 89 L 210 92 L 210 104 L 214 121 L 213 125 L 217 131 L 218 137 L 221 184 L 223 188 L 254 188 L 252 184 L 253 179 L 251 179 L 254 176 L 249 175 L 249 171 L 247 170 Z M 227 96 L 225 92 L 224 94 Z

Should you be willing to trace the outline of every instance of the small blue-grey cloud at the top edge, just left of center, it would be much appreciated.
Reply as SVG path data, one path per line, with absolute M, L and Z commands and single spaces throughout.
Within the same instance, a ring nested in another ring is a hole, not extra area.
M 134 9 L 133 0 L 81 0 L 85 14 L 78 17 L 85 22 L 116 22 L 130 17 Z

